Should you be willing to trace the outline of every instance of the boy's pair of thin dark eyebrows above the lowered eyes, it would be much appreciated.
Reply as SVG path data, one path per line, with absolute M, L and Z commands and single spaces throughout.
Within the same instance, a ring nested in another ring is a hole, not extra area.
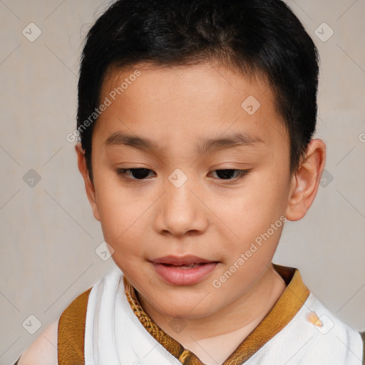
M 202 154 L 207 150 L 225 150 L 228 148 L 247 147 L 264 143 L 257 137 L 247 133 L 237 132 L 226 137 L 208 138 L 195 145 L 195 152 Z M 142 138 L 138 135 L 128 135 L 125 133 L 113 133 L 106 140 L 106 145 L 125 145 L 139 150 L 162 150 L 160 145 L 149 138 Z

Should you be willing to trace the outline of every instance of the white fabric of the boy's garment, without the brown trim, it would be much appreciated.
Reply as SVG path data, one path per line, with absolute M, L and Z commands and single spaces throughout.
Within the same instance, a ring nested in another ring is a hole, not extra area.
M 316 312 L 323 327 L 309 322 Z M 358 332 L 337 319 L 314 295 L 291 322 L 245 365 L 361 365 Z M 130 308 L 123 273 L 115 268 L 91 289 L 86 312 L 86 365 L 181 365 L 140 323 Z

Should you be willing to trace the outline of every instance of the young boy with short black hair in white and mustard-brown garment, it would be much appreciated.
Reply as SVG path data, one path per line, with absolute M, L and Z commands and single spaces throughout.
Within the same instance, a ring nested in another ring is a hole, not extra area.
M 116 268 L 19 365 L 364 364 L 361 334 L 272 264 L 324 170 L 317 83 L 282 1 L 110 6 L 83 50 L 76 153 Z

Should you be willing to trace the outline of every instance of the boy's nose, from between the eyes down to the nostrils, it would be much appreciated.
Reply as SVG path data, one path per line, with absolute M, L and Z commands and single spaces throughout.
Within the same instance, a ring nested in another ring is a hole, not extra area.
M 201 193 L 194 185 L 190 178 L 181 186 L 175 184 L 173 179 L 166 179 L 164 193 L 155 210 L 156 232 L 174 237 L 205 232 L 209 209 L 202 202 Z

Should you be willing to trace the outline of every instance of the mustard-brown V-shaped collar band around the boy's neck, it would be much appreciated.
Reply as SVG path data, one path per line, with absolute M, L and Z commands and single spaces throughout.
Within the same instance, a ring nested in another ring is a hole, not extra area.
M 241 342 L 237 349 L 228 356 L 222 365 L 243 364 L 255 354 L 270 339 L 279 333 L 302 308 L 309 296 L 309 289 L 304 285 L 298 269 L 273 264 L 274 269 L 284 279 L 287 288 L 277 300 L 276 304 L 262 319 L 255 329 Z M 133 313 L 143 324 L 146 331 L 153 336 L 167 351 L 184 365 L 204 365 L 191 351 L 169 336 L 158 324 L 153 322 L 144 311 L 135 289 L 128 279 L 123 276 L 125 295 Z

